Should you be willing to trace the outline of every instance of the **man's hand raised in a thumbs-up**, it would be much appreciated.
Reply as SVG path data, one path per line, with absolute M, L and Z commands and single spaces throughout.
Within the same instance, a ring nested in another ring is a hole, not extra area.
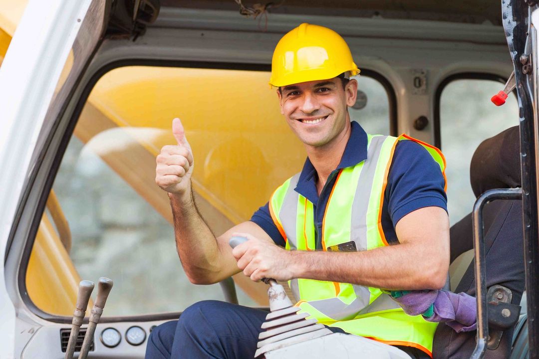
M 155 183 L 169 193 L 183 194 L 191 186 L 193 153 L 179 118 L 172 120 L 172 133 L 178 144 L 163 146 L 157 155 Z

